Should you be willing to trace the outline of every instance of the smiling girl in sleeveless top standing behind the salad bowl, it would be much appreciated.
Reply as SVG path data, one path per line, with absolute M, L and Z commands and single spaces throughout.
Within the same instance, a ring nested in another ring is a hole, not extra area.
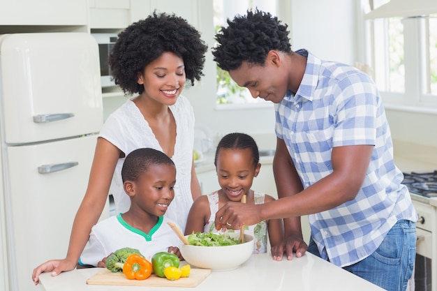
M 217 232 L 214 225 L 216 211 L 225 202 L 242 200 L 246 195 L 247 204 L 262 204 L 273 201 L 274 197 L 251 190 L 253 178 L 258 176 L 261 164 L 255 140 L 244 133 L 230 133 L 218 143 L 214 165 L 221 189 L 198 197 L 191 207 L 186 223 L 185 234 L 192 232 Z M 231 225 L 228 225 L 231 226 Z M 221 231 L 226 230 L 222 225 Z M 253 253 L 267 253 L 269 237 L 272 253 L 283 239 L 283 227 L 280 219 L 261 221 L 256 225 L 245 225 L 245 233 L 253 236 Z M 267 235 L 268 231 L 268 235 Z

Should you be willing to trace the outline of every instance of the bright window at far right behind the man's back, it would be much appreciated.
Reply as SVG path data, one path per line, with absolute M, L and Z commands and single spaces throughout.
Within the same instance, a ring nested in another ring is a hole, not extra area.
M 387 16 L 366 24 L 368 61 L 386 104 L 436 110 L 437 15 Z

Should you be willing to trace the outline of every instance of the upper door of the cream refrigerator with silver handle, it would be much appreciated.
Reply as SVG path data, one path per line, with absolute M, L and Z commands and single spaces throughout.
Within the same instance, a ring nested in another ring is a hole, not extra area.
M 103 101 L 98 45 L 89 33 L 3 36 L 0 65 L 7 144 L 100 130 Z

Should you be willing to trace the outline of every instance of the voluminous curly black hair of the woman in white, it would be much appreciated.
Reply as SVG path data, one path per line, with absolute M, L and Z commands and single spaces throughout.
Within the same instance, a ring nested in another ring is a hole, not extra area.
M 115 84 L 124 93 L 142 94 L 144 87 L 137 82 L 138 73 L 163 52 L 173 52 L 184 60 L 186 79 L 193 85 L 203 76 L 207 49 L 199 31 L 184 18 L 154 12 L 118 34 L 108 63 Z

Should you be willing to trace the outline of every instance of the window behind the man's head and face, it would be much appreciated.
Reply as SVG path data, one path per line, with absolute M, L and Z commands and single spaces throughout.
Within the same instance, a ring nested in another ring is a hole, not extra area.
M 224 25 L 226 20 L 232 19 L 235 15 L 246 14 L 249 9 L 258 8 L 260 10 L 276 15 L 276 1 L 272 0 L 214 0 L 214 31 L 217 32 Z M 217 99 L 216 103 L 219 106 L 231 105 L 247 105 L 265 106 L 266 102 L 259 98 L 252 98 L 249 90 L 239 87 L 230 77 L 228 72 L 221 70 L 216 66 L 216 82 L 217 82 Z

